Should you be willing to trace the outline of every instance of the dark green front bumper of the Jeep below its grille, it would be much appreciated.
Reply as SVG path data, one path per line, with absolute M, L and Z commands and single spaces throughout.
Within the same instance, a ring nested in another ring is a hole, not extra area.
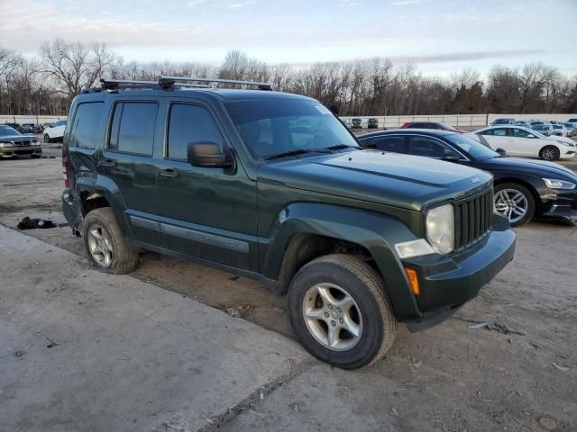
M 489 235 L 459 254 L 403 260 L 405 268 L 417 271 L 420 293 L 415 297 L 423 316 L 416 322 L 438 324 L 457 307 L 475 298 L 513 260 L 516 237 L 508 220 L 494 216 Z

